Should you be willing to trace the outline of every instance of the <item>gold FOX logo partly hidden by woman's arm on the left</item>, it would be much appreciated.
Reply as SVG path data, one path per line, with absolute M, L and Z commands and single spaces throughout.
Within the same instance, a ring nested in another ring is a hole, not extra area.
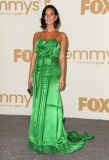
M 22 49 L 14 49 L 14 62 L 18 62 L 18 60 L 23 60 L 24 62 L 30 62 L 32 51 Z

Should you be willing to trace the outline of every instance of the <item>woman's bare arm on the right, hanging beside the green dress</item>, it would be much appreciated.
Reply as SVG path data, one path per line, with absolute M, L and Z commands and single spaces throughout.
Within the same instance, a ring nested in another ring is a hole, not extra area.
M 61 77 L 59 89 L 63 89 L 65 85 L 65 72 L 66 72 L 66 60 L 65 53 L 67 48 L 67 37 L 65 33 L 61 33 L 61 48 L 60 48 L 60 66 L 61 66 Z

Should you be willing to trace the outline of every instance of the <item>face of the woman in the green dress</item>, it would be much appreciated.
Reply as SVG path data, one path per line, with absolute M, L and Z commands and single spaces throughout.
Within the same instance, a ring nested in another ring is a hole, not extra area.
M 44 18 L 46 25 L 54 25 L 54 22 L 57 20 L 57 16 L 52 8 L 46 9 Z

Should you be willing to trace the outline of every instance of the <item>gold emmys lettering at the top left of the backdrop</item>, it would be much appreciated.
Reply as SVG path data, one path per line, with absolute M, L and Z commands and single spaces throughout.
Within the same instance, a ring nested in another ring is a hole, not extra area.
M 0 1 L 0 11 L 24 11 L 28 15 L 30 10 L 39 10 L 39 1 Z

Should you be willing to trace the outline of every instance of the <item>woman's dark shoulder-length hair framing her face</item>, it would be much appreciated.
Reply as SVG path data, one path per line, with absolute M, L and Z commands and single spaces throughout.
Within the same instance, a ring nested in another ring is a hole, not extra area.
M 58 14 L 58 11 L 57 9 L 53 6 L 53 5 L 47 5 L 43 11 L 42 11 L 42 17 L 41 17 L 41 28 L 45 29 L 46 28 L 46 23 L 45 23 L 45 12 L 48 8 L 51 8 L 53 9 L 55 15 L 57 16 L 57 20 L 54 22 L 54 27 L 57 28 L 58 25 L 60 24 L 60 19 L 59 19 L 59 14 Z

